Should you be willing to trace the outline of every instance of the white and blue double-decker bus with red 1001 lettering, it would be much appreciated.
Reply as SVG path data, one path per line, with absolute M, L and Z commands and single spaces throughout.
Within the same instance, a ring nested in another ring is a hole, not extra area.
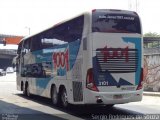
M 95 9 L 24 38 L 17 89 L 63 107 L 141 101 L 141 31 L 135 12 Z

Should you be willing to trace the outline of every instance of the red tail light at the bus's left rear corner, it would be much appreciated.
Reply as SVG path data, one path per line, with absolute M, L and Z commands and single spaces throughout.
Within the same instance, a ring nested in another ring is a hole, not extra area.
M 92 69 L 88 69 L 87 71 L 87 77 L 86 77 L 86 88 L 93 90 L 93 91 L 99 91 L 93 78 L 93 71 Z

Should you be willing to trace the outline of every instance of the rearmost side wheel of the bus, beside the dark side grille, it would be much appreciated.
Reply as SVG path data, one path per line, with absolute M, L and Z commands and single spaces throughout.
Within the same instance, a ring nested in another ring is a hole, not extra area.
M 64 108 L 67 108 L 69 106 L 67 92 L 65 88 L 61 92 L 61 102 Z

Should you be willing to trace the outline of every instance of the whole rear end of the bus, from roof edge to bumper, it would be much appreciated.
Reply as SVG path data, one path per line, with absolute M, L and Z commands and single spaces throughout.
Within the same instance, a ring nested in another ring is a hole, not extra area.
M 86 75 L 87 104 L 119 104 L 142 99 L 142 35 L 136 13 L 92 11 L 92 60 Z M 90 97 L 88 97 L 90 96 Z

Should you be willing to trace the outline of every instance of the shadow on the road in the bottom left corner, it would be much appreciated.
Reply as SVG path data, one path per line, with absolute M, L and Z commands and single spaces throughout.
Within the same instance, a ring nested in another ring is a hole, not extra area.
M 20 107 L 0 100 L 0 120 L 66 120 L 58 115 Z

